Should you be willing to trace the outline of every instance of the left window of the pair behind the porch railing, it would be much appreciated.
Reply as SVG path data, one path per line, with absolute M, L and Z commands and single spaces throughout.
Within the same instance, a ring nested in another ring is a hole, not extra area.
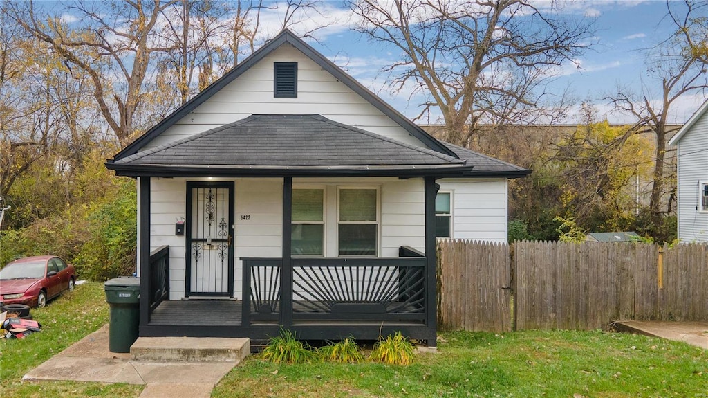
M 324 189 L 292 190 L 291 253 L 302 256 L 324 255 Z

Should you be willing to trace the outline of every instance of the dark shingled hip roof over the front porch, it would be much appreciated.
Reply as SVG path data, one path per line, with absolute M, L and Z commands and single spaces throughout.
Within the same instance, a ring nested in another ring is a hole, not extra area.
M 251 115 L 138 152 L 141 166 L 463 166 L 464 160 L 343 125 L 321 115 Z

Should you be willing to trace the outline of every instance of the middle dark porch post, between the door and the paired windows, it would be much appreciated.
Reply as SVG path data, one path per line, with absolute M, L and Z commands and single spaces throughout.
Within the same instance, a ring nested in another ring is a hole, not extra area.
M 282 178 L 282 265 L 280 269 L 280 325 L 292 326 L 292 177 Z

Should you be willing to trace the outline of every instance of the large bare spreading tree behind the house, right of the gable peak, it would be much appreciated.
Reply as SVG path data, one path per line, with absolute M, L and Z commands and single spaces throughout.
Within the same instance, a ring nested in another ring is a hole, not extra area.
M 552 2 L 558 6 L 559 2 Z M 547 108 L 544 82 L 591 44 L 591 21 L 530 0 L 355 0 L 357 30 L 394 45 L 394 90 L 411 84 L 428 97 L 418 118 L 438 108 L 446 140 L 466 146 L 478 124 L 530 123 Z M 553 118 L 554 115 L 549 115 Z

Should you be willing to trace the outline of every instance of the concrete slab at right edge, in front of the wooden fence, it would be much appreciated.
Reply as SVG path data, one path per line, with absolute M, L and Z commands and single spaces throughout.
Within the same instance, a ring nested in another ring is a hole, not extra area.
M 708 322 L 619 321 L 617 331 L 683 341 L 708 350 Z

